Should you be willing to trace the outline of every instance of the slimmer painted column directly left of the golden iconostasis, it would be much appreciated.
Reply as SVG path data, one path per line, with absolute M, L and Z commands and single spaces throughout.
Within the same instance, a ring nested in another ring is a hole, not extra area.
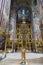
M 12 16 L 10 21 L 10 40 L 12 41 L 12 49 L 14 48 L 14 43 L 16 42 L 16 12 L 12 10 Z

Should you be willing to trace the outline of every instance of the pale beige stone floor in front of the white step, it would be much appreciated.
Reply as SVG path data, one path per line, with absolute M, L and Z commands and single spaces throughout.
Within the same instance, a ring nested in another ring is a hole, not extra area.
M 43 65 L 43 58 L 37 58 L 33 60 L 26 60 L 27 65 Z M 20 65 L 21 60 L 15 60 L 11 58 L 0 61 L 0 65 Z

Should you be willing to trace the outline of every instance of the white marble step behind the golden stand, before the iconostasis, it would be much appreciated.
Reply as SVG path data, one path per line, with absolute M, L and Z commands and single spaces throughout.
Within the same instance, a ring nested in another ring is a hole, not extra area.
M 7 58 L 14 58 L 14 59 L 22 59 L 22 54 L 21 53 L 8 53 L 6 55 Z M 43 54 L 38 54 L 38 53 L 26 53 L 26 59 L 35 59 L 35 58 L 40 58 L 43 57 Z

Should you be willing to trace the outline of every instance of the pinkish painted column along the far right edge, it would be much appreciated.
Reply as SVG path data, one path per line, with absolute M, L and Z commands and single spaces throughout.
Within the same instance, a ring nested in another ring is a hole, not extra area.
M 43 0 L 37 0 L 37 6 L 38 6 L 38 9 L 39 9 L 40 29 L 41 29 L 41 22 L 43 22 L 42 21 L 42 19 L 43 19 Z M 41 36 L 41 38 L 42 38 L 42 36 Z

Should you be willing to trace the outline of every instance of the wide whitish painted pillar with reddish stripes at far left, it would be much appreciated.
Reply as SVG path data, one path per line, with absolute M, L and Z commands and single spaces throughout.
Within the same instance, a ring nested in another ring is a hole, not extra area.
M 0 22 L 1 22 L 1 27 L 3 29 L 5 29 L 6 26 L 8 26 L 7 23 L 9 22 L 10 4 L 11 4 L 11 0 L 1 0 L 0 3 L 0 11 L 1 11 Z

